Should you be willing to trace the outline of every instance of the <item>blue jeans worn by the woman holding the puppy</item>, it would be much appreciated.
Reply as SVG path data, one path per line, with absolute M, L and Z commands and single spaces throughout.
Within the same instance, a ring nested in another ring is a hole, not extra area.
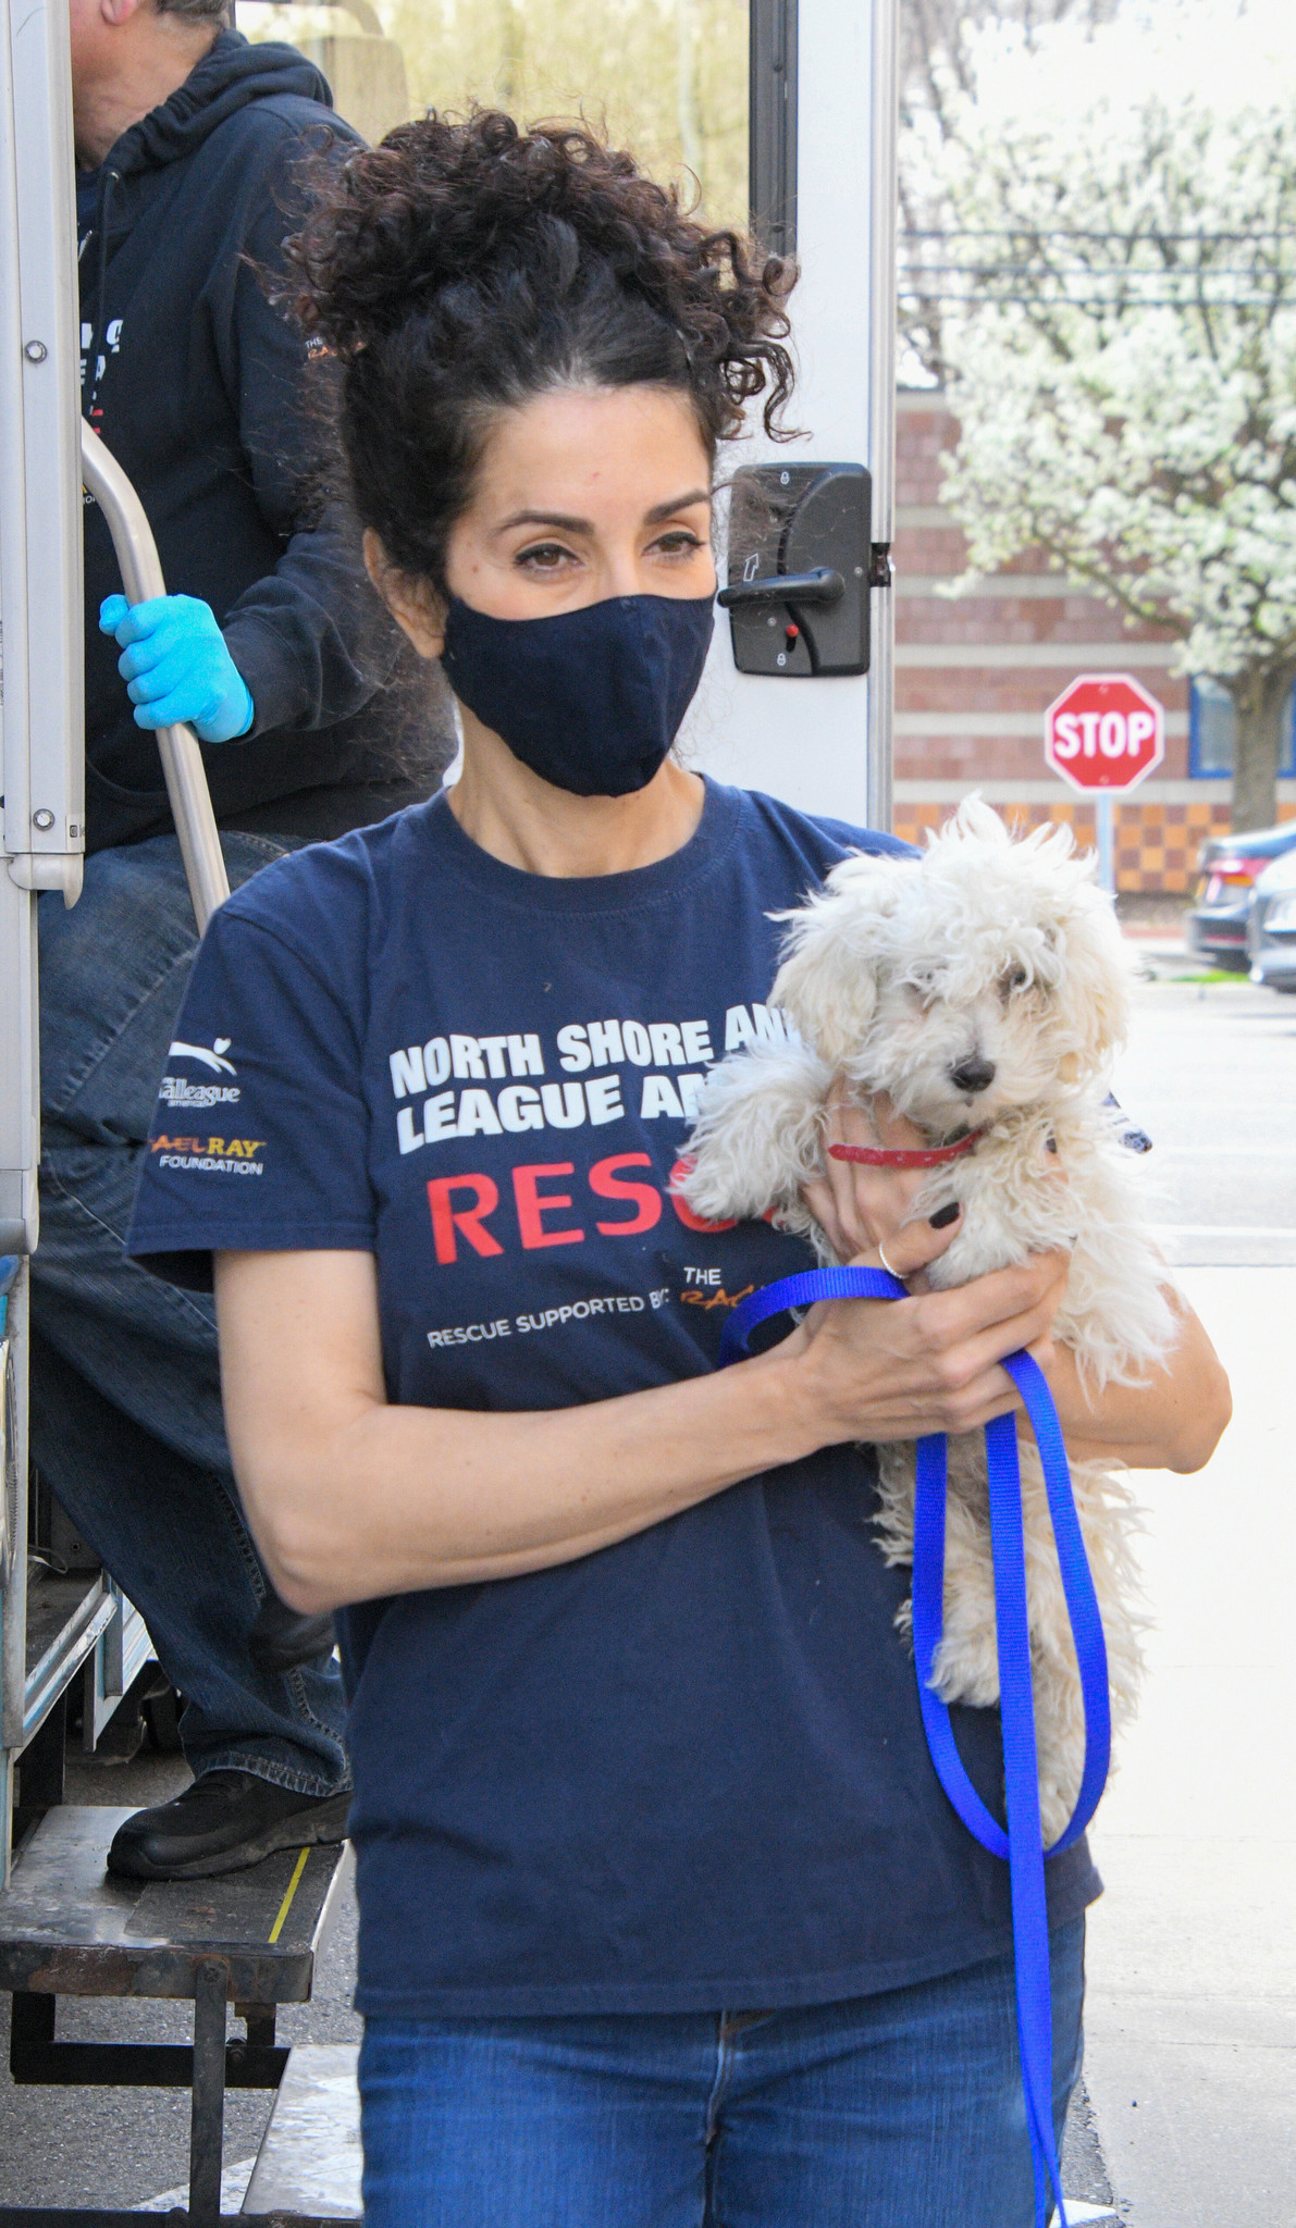
M 1084 1921 L 1056 1927 L 1058 2139 Z M 1013 1961 L 804 2012 L 370 2019 L 365 2228 L 1031 2228 Z

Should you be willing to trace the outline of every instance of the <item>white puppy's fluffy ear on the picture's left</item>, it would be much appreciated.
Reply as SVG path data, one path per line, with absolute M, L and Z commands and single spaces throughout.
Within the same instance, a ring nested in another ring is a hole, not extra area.
M 902 876 L 915 871 L 911 860 L 860 853 L 833 867 L 817 898 L 782 916 L 788 936 L 770 1003 L 831 1069 L 842 1067 L 868 1032 Z

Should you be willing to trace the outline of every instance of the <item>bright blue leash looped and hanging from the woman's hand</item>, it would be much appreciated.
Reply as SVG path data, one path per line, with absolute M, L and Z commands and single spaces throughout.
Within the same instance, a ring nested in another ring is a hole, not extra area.
M 799 1277 L 779 1277 L 735 1308 L 719 1341 L 719 1368 L 737 1361 L 757 1323 L 784 1308 L 808 1306 L 815 1299 L 909 1299 L 897 1277 L 880 1268 L 817 1268 Z M 1067 1446 L 1044 1372 L 1027 1352 L 1009 1355 L 1009 1377 L 1022 1395 L 1035 1430 L 1053 1540 L 1071 1640 L 1080 1664 L 1084 1696 L 1084 1773 L 1067 1829 L 1044 1849 L 1040 1825 L 1040 1769 L 1035 1756 L 1035 1698 L 1031 1691 L 1031 1633 L 1027 1624 L 1027 1548 L 1022 1535 L 1022 1473 L 1018 1464 L 1018 1421 L 1000 1415 L 986 1424 L 986 1470 L 991 1499 L 991 1553 L 995 1566 L 995 1629 L 1000 1658 L 1000 1720 L 1004 1738 L 1004 1798 L 1009 1831 L 991 1816 L 969 1780 L 955 1747 L 949 1707 L 931 1680 L 944 1631 L 944 1502 L 946 1442 L 944 1433 L 917 1442 L 917 1479 L 913 1499 L 913 1658 L 917 1700 L 926 1745 L 940 1785 L 969 1834 L 982 1849 L 1007 1858 L 1013 1900 L 1013 1950 L 1018 1983 L 1018 2045 L 1022 2054 L 1022 2090 L 1027 2097 L 1027 2130 L 1035 2177 L 1035 2228 L 1044 2228 L 1049 2183 L 1058 2199 L 1058 2221 L 1067 2228 L 1062 2175 L 1053 2139 L 1053 2001 L 1049 1985 L 1049 1907 L 1044 1898 L 1044 1858 L 1058 1856 L 1080 1838 L 1098 1809 L 1111 1753 L 1111 1702 L 1107 1689 L 1107 1644 L 1093 1575 L 1084 1555 L 1080 1519 L 1071 1497 Z

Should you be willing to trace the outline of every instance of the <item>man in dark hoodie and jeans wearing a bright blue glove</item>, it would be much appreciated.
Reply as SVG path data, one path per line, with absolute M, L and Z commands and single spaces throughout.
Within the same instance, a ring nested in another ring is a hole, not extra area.
M 151 729 L 194 722 L 232 885 L 428 795 L 452 744 L 327 497 L 307 352 L 272 301 L 310 158 L 354 134 L 225 0 L 69 11 L 82 408 L 174 593 L 127 610 L 87 501 L 91 856 L 71 913 L 40 905 L 33 1457 L 187 1698 L 194 1785 L 127 1820 L 109 1869 L 192 1878 L 341 1838 L 350 1780 L 332 1626 L 283 1609 L 243 1522 L 212 1306 L 120 1252 L 158 1083 L 178 1130 L 223 1132 L 212 1181 L 256 1167 L 229 1141 L 238 1049 L 174 1043 L 196 929 Z

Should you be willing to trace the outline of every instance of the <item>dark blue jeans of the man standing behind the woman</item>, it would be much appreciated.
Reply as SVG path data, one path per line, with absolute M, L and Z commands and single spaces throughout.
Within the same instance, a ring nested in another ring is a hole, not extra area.
M 223 836 L 238 887 L 287 844 Z M 98 851 L 80 902 L 40 898 L 40 1245 L 31 1453 L 140 1609 L 194 1773 L 303 1796 L 350 1785 L 332 1660 L 274 1675 L 247 1649 L 267 1580 L 238 1508 L 207 1294 L 122 1259 L 198 931 L 174 836 Z

